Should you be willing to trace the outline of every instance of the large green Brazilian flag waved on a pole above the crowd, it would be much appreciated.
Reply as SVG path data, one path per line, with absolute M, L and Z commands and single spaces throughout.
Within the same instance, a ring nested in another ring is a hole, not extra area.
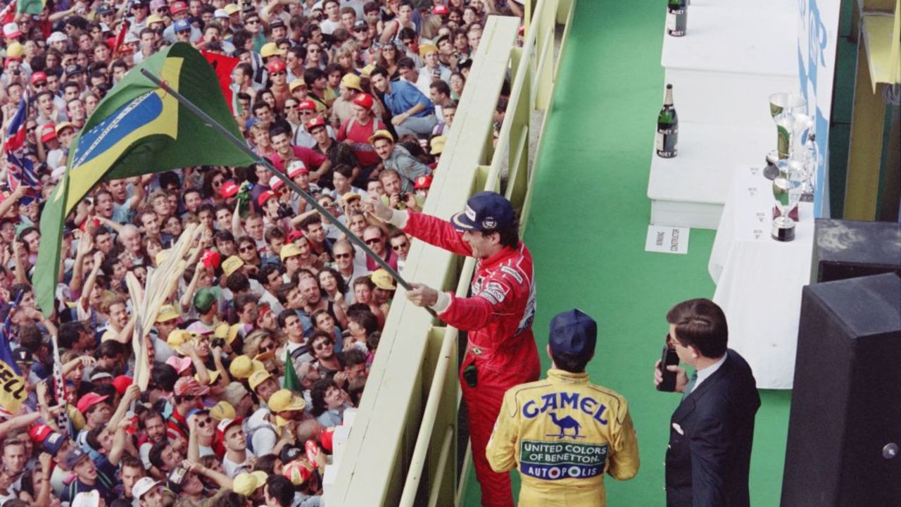
M 241 138 L 214 69 L 189 44 L 178 42 L 132 69 L 97 105 L 72 141 L 74 148 L 69 148 L 65 176 L 41 213 L 41 252 L 34 292 L 44 315 L 53 311 L 63 224 L 101 180 L 196 165 L 250 165 L 254 161 L 143 76 L 141 69 L 148 69 Z

